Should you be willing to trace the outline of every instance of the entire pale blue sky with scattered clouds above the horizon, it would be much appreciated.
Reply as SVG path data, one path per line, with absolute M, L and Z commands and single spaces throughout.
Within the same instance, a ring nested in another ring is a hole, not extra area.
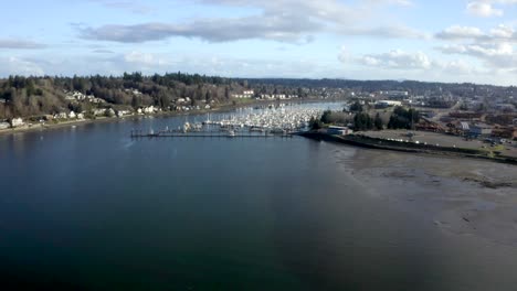
M 517 85 L 517 0 L 17 0 L 0 28 L 0 77 Z

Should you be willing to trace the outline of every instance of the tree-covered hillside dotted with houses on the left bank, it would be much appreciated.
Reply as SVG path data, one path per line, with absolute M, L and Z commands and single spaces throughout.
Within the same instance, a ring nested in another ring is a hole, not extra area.
M 137 109 L 156 106 L 170 110 L 175 101 L 187 98 L 190 106 L 202 103 L 228 103 L 233 94 L 250 89 L 247 80 L 230 79 L 198 74 L 173 73 L 144 76 L 140 73 L 125 73 L 123 76 L 74 76 L 74 77 L 23 77 L 10 76 L 0 79 L 0 119 L 55 115 L 74 110 L 87 111 L 93 108 Z M 289 94 L 297 88 L 284 86 L 257 87 L 258 94 Z M 72 99 L 72 94 L 95 97 L 102 103 Z M 254 96 L 253 96 L 254 97 Z

